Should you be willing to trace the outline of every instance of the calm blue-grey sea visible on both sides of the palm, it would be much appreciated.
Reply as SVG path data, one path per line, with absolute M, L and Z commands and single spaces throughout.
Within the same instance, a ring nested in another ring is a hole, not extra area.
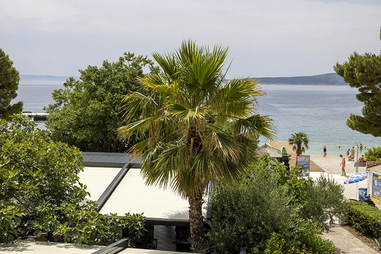
M 274 119 L 275 140 L 288 140 L 292 133 L 305 132 L 310 138 L 305 154 L 339 157 L 356 144 L 367 148 L 380 147 L 381 137 L 365 135 L 346 126 L 350 114 L 361 114 L 363 104 L 356 99 L 357 88 L 349 85 L 260 85 L 265 96 L 257 97 L 256 111 Z M 14 102 L 22 101 L 24 111 L 45 112 L 43 107 L 54 103 L 51 93 L 63 85 L 19 85 Z M 36 122 L 44 129 L 44 122 Z M 260 137 L 260 145 L 266 139 Z

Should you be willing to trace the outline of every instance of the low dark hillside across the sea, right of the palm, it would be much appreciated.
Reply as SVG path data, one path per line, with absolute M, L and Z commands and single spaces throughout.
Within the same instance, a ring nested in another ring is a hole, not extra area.
M 253 78 L 259 84 L 287 84 L 287 85 L 348 85 L 336 73 L 327 73 L 314 76 Z

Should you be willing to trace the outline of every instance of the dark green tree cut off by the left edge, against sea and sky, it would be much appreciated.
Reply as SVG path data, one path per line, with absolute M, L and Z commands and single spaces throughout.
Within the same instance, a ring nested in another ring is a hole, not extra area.
M 0 48 L 0 119 L 9 119 L 13 114 L 20 114 L 22 102 L 10 105 L 17 96 L 19 88 L 19 72 L 13 67 L 13 62 Z

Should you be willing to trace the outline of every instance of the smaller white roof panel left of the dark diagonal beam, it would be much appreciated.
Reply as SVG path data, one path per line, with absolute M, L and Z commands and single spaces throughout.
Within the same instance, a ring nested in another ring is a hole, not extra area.
M 85 167 L 83 172 L 80 172 L 80 182 L 87 186 L 86 191 L 90 192 L 90 200 L 97 199 L 106 190 L 121 168 L 105 168 L 105 167 Z

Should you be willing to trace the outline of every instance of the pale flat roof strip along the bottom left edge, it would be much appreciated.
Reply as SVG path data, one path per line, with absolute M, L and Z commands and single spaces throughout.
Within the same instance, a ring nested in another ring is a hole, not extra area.
M 75 245 L 71 243 L 51 243 L 15 240 L 13 243 L 0 244 L 0 254 L 91 254 L 105 246 Z

